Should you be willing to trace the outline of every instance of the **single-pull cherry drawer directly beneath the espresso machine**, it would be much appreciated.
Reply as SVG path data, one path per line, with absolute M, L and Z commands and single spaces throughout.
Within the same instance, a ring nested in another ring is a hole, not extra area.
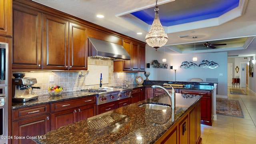
M 21 120 L 50 113 L 50 104 L 41 104 L 38 106 L 29 106 L 26 108 L 17 108 L 12 110 L 12 120 Z

